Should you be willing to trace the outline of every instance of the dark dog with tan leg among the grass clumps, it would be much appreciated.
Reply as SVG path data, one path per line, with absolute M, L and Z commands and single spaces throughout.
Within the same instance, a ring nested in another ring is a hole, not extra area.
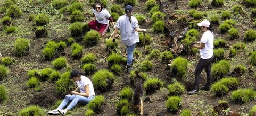
M 142 97 L 143 97 L 143 88 L 142 88 L 142 83 L 141 81 L 138 81 L 138 71 L 135 71 L 136 74 L 136 84 L 135 84 L 135 90 L 134 90 L 134 94 L 133 94 L 133 109 L 134 110 L 140 110 L 141 112 L 139 113 L 140 115 L 143 115 L 143 101 L 142 101 Z

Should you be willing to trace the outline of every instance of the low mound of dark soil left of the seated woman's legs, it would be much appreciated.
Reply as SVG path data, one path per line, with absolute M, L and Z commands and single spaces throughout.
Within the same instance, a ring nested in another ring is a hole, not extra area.
M 60 99 L 60 96 L 54 94 L 53 90 L 43 90 L 42 92 L 40 92 L 40 94 L 32 97 L 30 104 L 42 107 L 49 107 L 54 105 L 58 99 Z

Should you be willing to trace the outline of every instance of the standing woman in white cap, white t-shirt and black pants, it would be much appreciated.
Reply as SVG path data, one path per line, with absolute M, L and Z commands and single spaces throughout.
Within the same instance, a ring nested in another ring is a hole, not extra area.
M 200 30 L 203 32 L 202 38 L 200 41 L 195 42 L 194 47 L 200 50 L 200 60 L 197 63 L 195 68 L 195 89 L 193 91 L 189 91 L 187 94 L 195 94 L 199 92 L 199 84 L 201 81 L 201 72 L 205 69 L 207 73 L 207 83 L 202 87 L 202 90 L 209 90 L 212 80 L 211 73 L 211 63 L 213 59 L 213 40 L 214 34 L 211 29 L 211 23 L 207 20 L 203 20 L 202 22 L 197 24 L 200 27 Z

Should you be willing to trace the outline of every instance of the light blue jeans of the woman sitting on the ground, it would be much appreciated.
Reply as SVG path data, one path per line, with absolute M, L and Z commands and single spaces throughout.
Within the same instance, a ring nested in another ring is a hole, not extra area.
M 70 101 L 71 103 L 67 107 L 68 110 L 71 110 L 74 106 L 77 105 L 77 102 L 80 102 L 82 104 L 89 103 L 90 100 L 93 100 L 94 96 L 84 97 L 81 95 L 66 95 L 64 100 L 62 100 L 61 104 L 59 105 L 59 109 L 63 109 Z

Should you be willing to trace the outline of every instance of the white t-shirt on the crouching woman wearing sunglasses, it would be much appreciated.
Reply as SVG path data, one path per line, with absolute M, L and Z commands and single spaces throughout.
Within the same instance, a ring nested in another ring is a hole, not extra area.
M 109 24 L 108 18 L 111 16 L 109 12 L 105 9 L 101 10 L 101 12 L 97 12 L 96 10 L 93 9 L 93 14 L 96 17 L 96 20 L 98 23 L 101 24 Z

